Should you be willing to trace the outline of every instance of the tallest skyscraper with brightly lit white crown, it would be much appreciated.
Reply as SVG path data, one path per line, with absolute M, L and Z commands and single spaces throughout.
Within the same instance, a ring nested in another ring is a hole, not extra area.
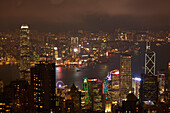
M 29 27 L 22 25 L 20 30 L 20 79 L 28 81 L 30 84 L 30 43 Z

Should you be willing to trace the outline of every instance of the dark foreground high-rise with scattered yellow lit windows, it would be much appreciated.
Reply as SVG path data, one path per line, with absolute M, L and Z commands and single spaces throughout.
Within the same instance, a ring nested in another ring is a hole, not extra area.
M 33 112 L 50 112 L 55 108 L 55 64 L 40 63 L 31 68 Z

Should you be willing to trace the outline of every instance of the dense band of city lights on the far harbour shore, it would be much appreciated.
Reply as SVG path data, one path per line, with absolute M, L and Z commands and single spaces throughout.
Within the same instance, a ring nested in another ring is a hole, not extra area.
M 24 38 L 25 37 L 25 38 Z M 28 37 L 28 38 L 26 38 Z M 22 25 L 11 33 L 0 32 L 0 65 L 21 64 L 22 48 L 29 48 L 31 64 L 39 60 L 65 65 L 78 62 L 84 57 L 97 59 L 108 53 L 129 53 L 139 49 L 136 45 L 145 41 L 157 42 L 157 46 L 170 42 L 169 31 L 151 32 L 116 29 L 113 33 L 85 30 L 61 33 L 39 33 Z M 27 44 L 27 47 L 24 45 Z M 123 45 L 123 46 L 122 46 Z M 133 50 L 133 51 L 132 51 Z M 56 61 L 57 60 L 57 61 Z

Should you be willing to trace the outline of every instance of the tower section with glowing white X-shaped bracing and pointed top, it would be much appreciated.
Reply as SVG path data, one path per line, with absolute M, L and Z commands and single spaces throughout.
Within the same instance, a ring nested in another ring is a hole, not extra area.
M 155 75 L 155 60 L 156 54 L 150 49 L 150 42 L 146 42 L 146 53 L 145 53 L 145 74 Z

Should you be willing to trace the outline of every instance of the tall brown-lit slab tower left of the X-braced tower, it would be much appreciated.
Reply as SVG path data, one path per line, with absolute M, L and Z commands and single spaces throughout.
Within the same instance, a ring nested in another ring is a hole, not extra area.
M 131 62 L 130 55 L 120 56 L 120 102 L 132 90 Z

